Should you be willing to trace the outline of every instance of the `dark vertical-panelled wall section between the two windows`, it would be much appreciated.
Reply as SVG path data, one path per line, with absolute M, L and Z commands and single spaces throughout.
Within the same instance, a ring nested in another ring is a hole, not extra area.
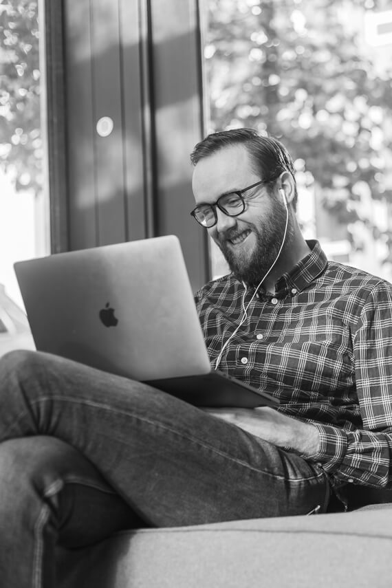
M 52 186 L 61 165 L 66 186 L 53 195 L 53 250 L 174 233 L 196 289 L 208 279 L 206 235 L 189 215 L 203 132 L 197 0 L 52 0 L 46 14 L 47 47 L 57 65 L 63 56 L 61 111 L 48 95 L 50 141 L 56 116 L 64 140 L 64 153 L 58 136 L 49 149 Z

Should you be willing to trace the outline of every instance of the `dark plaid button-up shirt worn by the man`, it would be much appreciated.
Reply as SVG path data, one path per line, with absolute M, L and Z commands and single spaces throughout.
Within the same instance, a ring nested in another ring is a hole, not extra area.
M 317 241 L 260 290 L 219 369 L 279 398 L 279 411 L 311 422 L 320 450 L 307 456 L 347 482 L 392 481 L 392 285 L 334 261 Z M 231 274 L 195 296 L 213 366 L 254 290 Z M 245 298 L 243 300 L 243 296 Z

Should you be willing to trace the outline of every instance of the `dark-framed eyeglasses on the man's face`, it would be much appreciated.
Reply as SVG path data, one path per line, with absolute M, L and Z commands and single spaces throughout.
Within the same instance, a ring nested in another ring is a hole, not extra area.
M 245 210 L 245 199 L 243 199 L 243 193 L 248 192 L 252 188 L 256 188 L 256 186 L 261 186 L 261 184 L 269 184 L 269 182 L 265 182 L 265 180 L 261 179 L 260 182 L 256 182 L 256 184 L 252 184 L 252 186 L 248 186 L 247 188 L 243 188 L 243 190 L 235 190 L 234 192 L 230 192 L 228 194 L 224 194 L 217 199 L 217 202 L 213 202 L 213 204 L 199 204 L 192 210 L 190 213 L 191 216 L 205 228 L 211 228 L 217 224 L 218 216 L 217 216 L 217 208 L 228 215 L 228 217 L 238 217 L 243 213 Z

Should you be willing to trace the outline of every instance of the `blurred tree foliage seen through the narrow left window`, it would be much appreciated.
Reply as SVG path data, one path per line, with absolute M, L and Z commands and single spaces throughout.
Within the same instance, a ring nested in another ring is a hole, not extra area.
M 0 0 L 0 166 L 17 190 L 42 185 L 38 4 Z

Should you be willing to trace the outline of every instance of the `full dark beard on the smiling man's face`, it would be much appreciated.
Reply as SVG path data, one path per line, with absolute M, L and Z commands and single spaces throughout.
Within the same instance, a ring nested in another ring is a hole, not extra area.
M 272 210 L 268 216 L 269 219 L 260 218 L 257 225 L 248 224 L 256 237 L 256 246 L 251 254 L 246 250 L 234 252 L 228 245 L 228 239 L 234 239 L 239 235 L 238 228 L 232 228 L 217 239 L 217 245 L 224 254 L 232 274 L 240 282 L 253 287 L 259 285 L 276 261 L 285 236 L 286 209 L 275 198 L 272 199 Z M 290 243 L 291 234 L 289 219 L 282 252 Z

